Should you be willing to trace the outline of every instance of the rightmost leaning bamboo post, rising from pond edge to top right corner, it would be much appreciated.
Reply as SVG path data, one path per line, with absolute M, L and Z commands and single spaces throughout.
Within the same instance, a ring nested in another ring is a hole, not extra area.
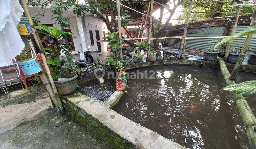
M 256 0 L 255 0 L 255 2 L 256 2 Z M 254 11 L 252 13 L 250 27 L 255 27 L 255 26 L 256 26 L 256 6 L 254 6 Z M 234 80 L 235 77 L 236 77 L 236 74 L 238 73 L 239 67 L 242 64 L 242 60 L 244 59 L 246 51 L 249 48 L 249 45 L 250 45 L 250 42 L 251 42 L 251 39 L 252 39 L 252 35 L 253 34 L 247 35 L 247 37 L 245 39 L 245 43 L 244 43 L 244 46 L 241 49 L 241 53 L 240 53 L 240 55 L 238 57 L 238 61 L 236 62 L 235 67 L 234 67 L 234 69 L 233 69 L 233 71 L 231 73 L 231 76 L 230 76 L 231 80 Z

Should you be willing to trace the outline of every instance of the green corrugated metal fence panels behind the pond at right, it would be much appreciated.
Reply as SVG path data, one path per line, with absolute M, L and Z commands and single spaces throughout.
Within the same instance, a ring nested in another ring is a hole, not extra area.
M 243 31 L 245 28 L 249 26 L 238 26 L 236 28 L 236 33 Z M 169 31 L 168 37 L 172 36 L 183 36 L 183 29 L 179 29 L 176 31 Z M 190 28 L 188 29 L 187 37 L 213 37 L 213 36 L 222 36 L 224 32 L 224 26 L 220 27 L 203 27 L 203 28 Z M 256 34 L 254 34 L 256 35 Z M 242 37 L 233 41 L 233 45 L 231 46 L 232 50 L 239 50 L 240 45 L 244 44 L 246 37 Z M 214 45 L 215 43 L 208 43 L 212 40 L 216 39 L 187 39 L 185 47 L 206 50 L 209 46 Z M 218 39 L 221 40 L 220 38 Z M 166 43 L 169 45 L 181 45 L 181 39 L 167 39 Z M 250 43 L 251 51 L 256 51 L 256 37 L 253 37 Z

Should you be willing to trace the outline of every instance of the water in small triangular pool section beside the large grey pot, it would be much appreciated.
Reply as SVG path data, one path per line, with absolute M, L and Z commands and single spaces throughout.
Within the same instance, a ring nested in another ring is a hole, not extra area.
M 105 78 L 103 86 L 96 79 L 80 85 L 79 92 L 97 101 L 105 101 L 116 90 L 115 80 Z

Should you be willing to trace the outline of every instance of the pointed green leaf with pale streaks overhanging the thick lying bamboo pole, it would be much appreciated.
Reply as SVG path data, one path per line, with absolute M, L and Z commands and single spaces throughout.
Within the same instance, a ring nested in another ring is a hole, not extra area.
M 228 85 L 222 88 L 221 90 L 229 90 L 236 94 L 250 95 L 250 94 L 256 93 L 256 80 L 246 81 L 239 84 Z

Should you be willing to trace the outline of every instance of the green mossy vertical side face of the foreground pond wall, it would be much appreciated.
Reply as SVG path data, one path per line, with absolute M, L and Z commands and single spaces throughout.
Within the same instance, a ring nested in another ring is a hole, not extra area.
M 84 129 L 84 131 L 89 132 L 90 135 L 94 137 L 99 143 L 103 143 L 106 147 L 109 148 L 134 148 L 132 143 L 123 139 L 106 126 L 103 126 L 102 123 L 92 115 L 80 109 L 80 107 L 76 106 L 74 103 L 67 101 L 64 97 L 62 97 L 62 99 L 66 101 L 66 104 L 63 103 L 66 114 L 76 123 L 78 123 L 82 129 Z

